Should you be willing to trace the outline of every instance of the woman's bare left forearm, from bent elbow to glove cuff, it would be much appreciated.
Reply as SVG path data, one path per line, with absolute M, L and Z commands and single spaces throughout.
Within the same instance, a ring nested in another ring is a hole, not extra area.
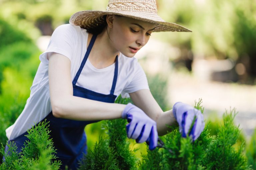
M 105 103 L 76 96 L 62 97 L 52 104 L 53 115 L 79 121 L 121 118 L 126 105 Z

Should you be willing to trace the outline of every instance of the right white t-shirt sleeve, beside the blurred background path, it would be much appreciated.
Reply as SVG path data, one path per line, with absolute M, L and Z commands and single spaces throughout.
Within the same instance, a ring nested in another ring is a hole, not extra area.
M 128 81 L 128 84 L 121 92 L 121 96 L 122 98 L 128 98 L 130 97 L 128 93 L 133 93 L 142 89 L 149 89 L 148 80 L 141 65 L 136 61 L 134 63 L 133 74 L 130 78 L 130 81 Z

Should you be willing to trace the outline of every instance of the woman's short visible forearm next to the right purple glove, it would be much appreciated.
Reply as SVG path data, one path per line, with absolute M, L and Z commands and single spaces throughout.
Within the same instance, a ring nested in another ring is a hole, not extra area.
M 172 110 L 163 112 L 162 114 L 159 114 L 157 121 L 157 132 L 159 136 L 165 135 L 167 131 L 171 131 L 168 126 L 178 125 L 176 122 L 176 119 L 173 116 Z

